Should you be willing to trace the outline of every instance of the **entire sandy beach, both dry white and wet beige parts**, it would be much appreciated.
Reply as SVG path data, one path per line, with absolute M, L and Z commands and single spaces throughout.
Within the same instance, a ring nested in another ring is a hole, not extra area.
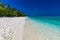
M 27 17 L 0 18 L 0 27 L 6 27 L 6 31 L 9 31 L 10 28 L 10 30 L 14 32 L 12 34 L 13 36 L 9 34 L 13 37 L 12 40 L 43 40 L 37 29 L 34 28 L 32 23 L 27 19 Z M 7 40 L 4 39 L 4 37 L 1 37 L 2 33 L 4 32 L 1 32 L 0 39 Z M 6 33 L 8 34 L 8 32 Z

